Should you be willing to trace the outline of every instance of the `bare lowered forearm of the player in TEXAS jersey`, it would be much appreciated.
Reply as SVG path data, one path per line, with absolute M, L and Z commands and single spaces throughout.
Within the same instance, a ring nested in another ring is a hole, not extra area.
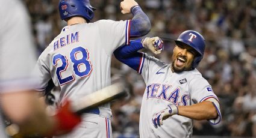
M 217 118 L 217 110 L 210 101 L 202 101 L 192 106 L 178 106 L 178 115 L 195 120 Z

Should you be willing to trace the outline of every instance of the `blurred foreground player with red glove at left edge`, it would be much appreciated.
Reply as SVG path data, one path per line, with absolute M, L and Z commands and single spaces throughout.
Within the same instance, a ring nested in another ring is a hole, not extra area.
M 69 104 L 54 118 L 46 114 L 45 105 L 33 91 L 35 79 L 31 76 L 36 64 L 36 51 L 27 10 L 19 0 L 0 0 L 0 106 L 5 116 L 23 134 L 63 134 L 72 130 L 81 118 L 70 112 Z M 0 110 L 0 112 L 1 112 Z M 1 118 L 1 116 L 0 116 Z M 66 121 L 66 122 L 65 122 Z M 18 126 L 17 126 L 18 125 Z M 0 119 L 0 137 L 6 137 Z M 16 134 L 13 131 L 11 134 Z M 24 136 L 25 137 L 25 136 Z

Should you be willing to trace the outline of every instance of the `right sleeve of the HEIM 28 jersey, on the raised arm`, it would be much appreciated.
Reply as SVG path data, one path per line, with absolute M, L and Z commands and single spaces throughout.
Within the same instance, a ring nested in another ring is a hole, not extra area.
M 99 41 L 111 55 L 117 47 L 130 44 L 130 20 L 100 20 L 99 35 Z

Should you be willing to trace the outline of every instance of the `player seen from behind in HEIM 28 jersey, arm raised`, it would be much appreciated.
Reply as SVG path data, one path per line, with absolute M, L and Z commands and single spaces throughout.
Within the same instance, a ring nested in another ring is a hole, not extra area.
M 66 98 L 76 100 L 110 85 L 114 49 L 129 44 L 130 37 L 150 31 L 150 21 L 136 1 L 124 0 L 120 8 L 123 14 L 132 13 L 133 19 L 90 23 L 96 8 L 89 0 L 59 2 L 60 17 L 67 26 L 40 55 L 36 74 L 39 90 L 45 89 L 50 79 L 60 88 L 60 107 Z M 110 119 L 110 104 L 104 104 L 85 112 L 79 127 L 61 137 L 112 137 Z

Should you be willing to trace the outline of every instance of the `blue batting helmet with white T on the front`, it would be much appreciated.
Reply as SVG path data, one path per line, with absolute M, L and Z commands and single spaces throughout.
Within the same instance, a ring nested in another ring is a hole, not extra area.
M 178 45 L 180 43 L 185 43 L 198 52 L 198 55 L 195 56 L 192 62 L 192 69 L 196 68 L 199 62 L 202 60 L 204 56 L 204 49 L 205 49 L 205 40 L 199 32 L 187 30 L 180 34 L 175 43 Z

